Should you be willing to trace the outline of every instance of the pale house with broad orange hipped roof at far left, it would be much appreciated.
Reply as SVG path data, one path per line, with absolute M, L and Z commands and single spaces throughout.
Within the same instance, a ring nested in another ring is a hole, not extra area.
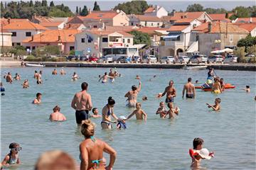
M 4 26 L 3 29 L 7 30 L 9 33 L 12 33 L 11 41 L 13 46 L 21 45 L 21 42 L 26 38 L 48 30 L 48 28 L 45 28 L 37 23 L 32 23 L 31 21 L 10 23 Z

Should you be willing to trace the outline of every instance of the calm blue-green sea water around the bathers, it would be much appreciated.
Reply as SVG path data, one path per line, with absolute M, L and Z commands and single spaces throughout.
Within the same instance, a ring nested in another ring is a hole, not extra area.
M 65 68 L 67 75 L 53 76 L 53 68 L 43 68 L 43 85 L 33 79 L 36 68 L 2 68 L 1 73 L 21 74 L 22 81 L 7 84 L 6 95 L 1 96 L 1 161 L 9 153 L 9 144 L 18 142 L 23 148 L 20 154 L 22 165 L 18 169 L 33 169 L 39 154 L 50 149 L 62 149 L 79 162 L 79 144 L 84 139 L 75 123 L 75 111 L 70 102 L 75 92 L 80 91 L 82 81 L 89 84 L 93 106 L 102 110 L 107 98 L 112 96 L 116 105 L 116 115 L 129 115 L 132 109 L 126 108 L 124 94 L 133 84 L 134 77 L 142 77 L 142 91 L 138 101 L 146 95 L 148 101 L 142 108 L 148 114 L 146 123 L 137 122 L 135 117 L 127 122 L 127 130 L 101 130 L 101 119 L 95 136 L 105 140 L 117 150 L 114 169 L 189 169 L 191 158 L 188 149 L 193 147 L 195 137 L 202 137 L 204 147 L 215 152 L 215 158 L 203 160 L 206 169 L 255 169 L 255 72 L 215 72 L 224 77 L 225 82 L 234 84 L 236 89 L 226 90 L 218 95 L 221 98 L 221 111 L 215 113 L 206 107 L 217 97 L 209 92 L 198 90 L 195 100 L 182 99 L 183 84 L 188 77 L 203 82 L 207 71 L 186 71 L 179 69 L 118 69 L 122 77 L 114 84 L 101 84 L 99 74 L 108 72 L 100 68 Z M 59 70 L 59 68 L 58 68 Z M 70 81 L 73 72 L 82 79 Z M 150 78 L 156 75 L 153 81 Z M 22 89 L 23 79 L 28 79 L 30 87 Z M 160 101 L 155 98 L 164 91 L 170 79 L 177 89 L 175 105 L 181 108 L 175 120 L 161 120 L 155 115 Z M 251 86 L 251 93 L 241 89 Z M 36 93 L 43 94 L 40 106 L 31 104 Z M 48 118 L 55 105 L 67 121 L 51 123 Z M 107 157 L 107 155 L 105 155 Z M 109 157 L 107 157 L 109 159 Z

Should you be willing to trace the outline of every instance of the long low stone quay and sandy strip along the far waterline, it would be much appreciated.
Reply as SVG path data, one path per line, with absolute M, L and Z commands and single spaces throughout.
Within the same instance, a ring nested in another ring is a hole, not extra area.
M 26 62 L 44 64 L 46 67 L 102 67 L 102 68 L 136 68 L 136 69 L 183 69 L 185 64 L 131 64 L 131 63 L 87 63 L 87 62 Z M 187 64 L 187 66 L 213 67 L 214 69 L 233 71 L 256 71 L 256 64 Z M 0 61 L 0 68 L 21 67 L 20 61 Z

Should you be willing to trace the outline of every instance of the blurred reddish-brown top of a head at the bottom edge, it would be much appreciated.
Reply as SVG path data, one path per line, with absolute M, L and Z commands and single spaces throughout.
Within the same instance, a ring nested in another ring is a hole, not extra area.
M 41 154 L 35 165 L 35 170 L 75 170 L 75 160 L 69 154 L 53 150 Z

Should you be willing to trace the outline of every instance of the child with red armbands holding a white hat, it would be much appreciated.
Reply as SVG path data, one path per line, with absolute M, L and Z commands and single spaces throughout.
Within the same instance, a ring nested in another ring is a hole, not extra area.
M 197 137 L 193 140 L 193 149 L 189 149 L 191 156 L 191 169 L 200 168 L 201 159 L 211 159 L 214 157 L 214 152 L 209 152 L 208 149 L 203 148 L 203 139 Z

